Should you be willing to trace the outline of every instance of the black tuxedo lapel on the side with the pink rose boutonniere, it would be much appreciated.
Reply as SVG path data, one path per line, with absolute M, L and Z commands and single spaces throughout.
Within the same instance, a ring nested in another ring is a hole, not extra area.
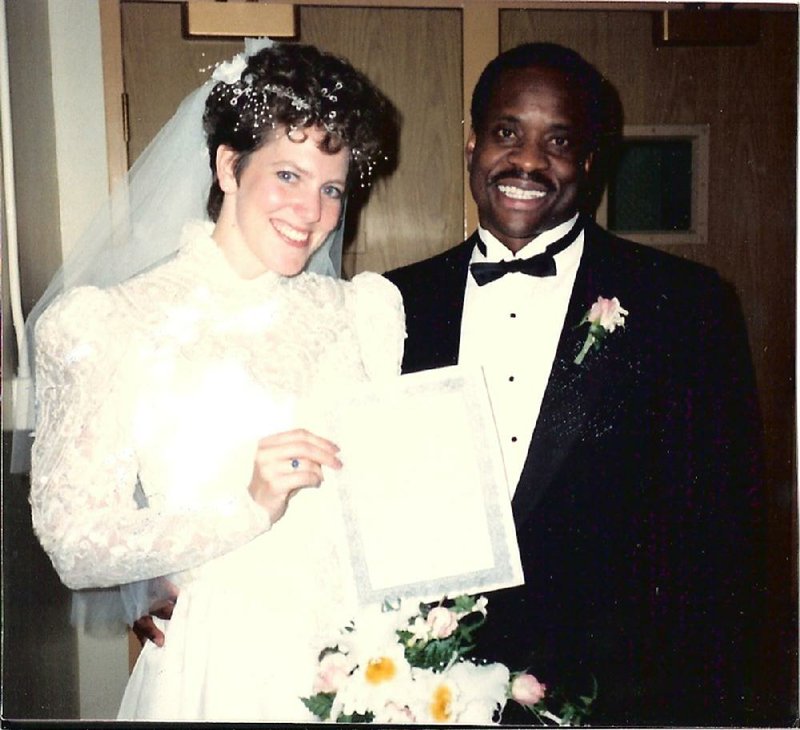
M 608 383 L 607 374 L 621 356 L 613 340 L 600 350 L 592 350 L 581 365 L 575 357 L 586 340 L 588 327 L 577 326 L 598 296 L 606 292 L 602 282 L 613 280 L 611 262 L 598 245 L 593 227 L 587 227 L 584 252 L 572 288 L 564 327 L 556 349 L 553 368 L 545 389 L 539 417 L 531 438 L 528 456 L 512 502 L 514 520 L 522 524 L 552 484 L 559 469 L 575 446 L 587 418 Z

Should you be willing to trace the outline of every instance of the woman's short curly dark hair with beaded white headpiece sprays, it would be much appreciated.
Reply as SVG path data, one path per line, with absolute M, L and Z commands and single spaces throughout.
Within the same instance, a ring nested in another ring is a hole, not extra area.
M 216 173 L 217 148 L 238 154 L 237 179 L 250 156 L 275 129 L 294 132 L 319 128 L 322 151 L 350 150 L 348 185 L 360 176 L 369 181 L 384 162 L 396 136 L 397 114 L 389 100 L 347 61 L 314 46 L 277 43 L 247 59 L 234 83 L 220 81 L 206 101 L 203 129 L 208 142 L 212 183 L 207 210 L 216 221 L 223 192 Z M 300 132 L 300 134 L 298 134 Z

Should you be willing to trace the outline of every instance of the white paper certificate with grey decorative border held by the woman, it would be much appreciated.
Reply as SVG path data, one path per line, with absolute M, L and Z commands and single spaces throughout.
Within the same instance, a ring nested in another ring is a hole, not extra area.
M 449 367 L 359 388 L 331 438 L 359 603 L 523 583 L 483 374 Z

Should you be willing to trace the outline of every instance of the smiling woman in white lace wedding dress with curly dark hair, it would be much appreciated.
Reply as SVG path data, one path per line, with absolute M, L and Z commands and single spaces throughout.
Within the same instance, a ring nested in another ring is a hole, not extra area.
M 309 46 L 215 77 L 213 222 L 186 222 L 166 263 L 72 288 L 39 319 L 33 522 L 70 588 L 180 588 L 120 718 L 305 721 L 318 651 L 353 610 L 333 478 L 347 455 L 319 435 L 321 404 L 399 374 L 404 338 L 385 279 L 305 269 L 336 268 L 343 201 L 379 160 L 390 107 Z

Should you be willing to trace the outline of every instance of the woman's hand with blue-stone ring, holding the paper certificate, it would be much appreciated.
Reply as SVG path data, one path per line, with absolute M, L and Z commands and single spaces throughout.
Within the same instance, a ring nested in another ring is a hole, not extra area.
M 248 487 L 250 496 L 277 522 L 298 489 L 322 483 L 323 465 L 342 468 L 338 451 L 336 444 L 303 428 L 261 439 Z

